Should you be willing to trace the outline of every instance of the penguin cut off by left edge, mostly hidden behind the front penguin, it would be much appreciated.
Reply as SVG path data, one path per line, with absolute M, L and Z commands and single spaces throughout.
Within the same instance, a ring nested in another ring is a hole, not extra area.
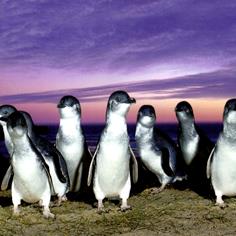
M 7 151 L 11 157 L 13 153 L 13 143 L 11 141 L 10 135 L 7 131 L 7 118 L 9 115 L 11 115 L 13 112 L 16 111 L 16 108 L 12 105 L 2 105 L 0 106 L 0 125 L 2 125 L 3 128 L 3 134 L 4 134 L 4 140 L 5 140 L 5 145 L 7 148 Z

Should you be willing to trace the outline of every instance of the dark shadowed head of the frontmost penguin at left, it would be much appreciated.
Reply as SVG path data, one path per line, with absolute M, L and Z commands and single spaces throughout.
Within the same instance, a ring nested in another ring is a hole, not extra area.
M 8 117 L 7 130 L 10 136 L 15 138 L 27 134 L 26 120 L 21 112 L 15 111 Z

